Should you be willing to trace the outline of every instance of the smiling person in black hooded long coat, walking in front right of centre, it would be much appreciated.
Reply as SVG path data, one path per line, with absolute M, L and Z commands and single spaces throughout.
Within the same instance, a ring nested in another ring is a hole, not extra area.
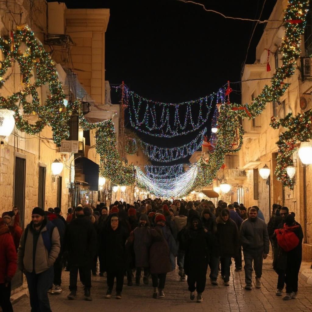
M 197 213 L 194 213 L 190 217 L 189 228 L 183 232 L 181 237 L 185 248 L 184 271 L 188 275 L 190 299 L 195 299 L 194 291 L 196 289 L 197 302 L 202 302 L 203 300 L 202 293 L 206 285 L 211 235 L 210 232 L 202 227 L 202 222 Z

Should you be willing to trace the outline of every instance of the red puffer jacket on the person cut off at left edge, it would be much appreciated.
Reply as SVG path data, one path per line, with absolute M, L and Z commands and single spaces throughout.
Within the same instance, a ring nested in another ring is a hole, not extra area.
M 2 222 L 4 223 L 4 222 Z M 0 225 L 0 284 L 12 279 L 17 269 L 17 254 L 9 228 Z

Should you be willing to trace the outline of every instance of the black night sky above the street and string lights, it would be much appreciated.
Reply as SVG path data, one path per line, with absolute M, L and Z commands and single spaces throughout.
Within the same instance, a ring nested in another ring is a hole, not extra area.
M 264 20 L 270 16 L 276 0 L 195 2 L 226 16 Z M 105 35 L 105 79 L 110 84 L 124 80 L 131 90 L 146 98 L 177 103 L 209 95 L 227 80 L 241 80 L 255 22 L 225 19 L 205 12 L 199 5 L 178 0 L 65 3 L 68 8 L 110 9 Z M 263 29 L 264 24 L 256 27 L 247 64 L 255 61 L 256 44 Z M 240 102 L 240 83 L 231 87 L 231 101 Z M 209 122 L 206 126 L 210 129 Z M 139 135 L 148 143 L 173 147 L 188 143 L 199 131 L 173 139 Z

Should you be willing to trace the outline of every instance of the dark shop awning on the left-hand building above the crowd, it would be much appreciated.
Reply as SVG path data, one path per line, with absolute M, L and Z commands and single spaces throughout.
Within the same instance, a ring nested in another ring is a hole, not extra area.
M 90 185 L 91 191 L 99 190 L 99 165 L 86 157 L 75 159 L 75 169 L 82 169 L 85 182 Z

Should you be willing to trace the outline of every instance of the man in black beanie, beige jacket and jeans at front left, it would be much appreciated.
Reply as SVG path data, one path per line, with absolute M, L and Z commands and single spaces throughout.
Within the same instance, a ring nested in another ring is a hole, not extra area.
M 22 234 L 17 265 L 25 273 L 32 311 L 51 311 L 48 290 L 53 283 L 53 264 L 61 249 L 57 227 L 40 207 L 32 210 L 32 221 Z

